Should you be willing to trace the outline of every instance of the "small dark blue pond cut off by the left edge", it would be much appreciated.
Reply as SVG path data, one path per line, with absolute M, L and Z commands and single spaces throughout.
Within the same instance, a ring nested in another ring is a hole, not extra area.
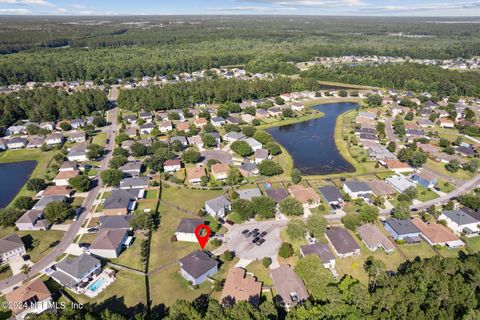
M 12 201 L 36 165 L 36 161 L 0 163 L 0 208 Z

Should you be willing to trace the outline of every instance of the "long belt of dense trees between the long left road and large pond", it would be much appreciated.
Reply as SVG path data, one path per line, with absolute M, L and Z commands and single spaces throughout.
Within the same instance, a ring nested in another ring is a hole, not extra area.
M 262 99 L 285 92 L 319 88 L 319 83 L 311 79 L 293 80 L 287 77 L 253 81 L 218 79 L 122 90 L 117 103 L 121 108 L 132 111 L 166 110 L 188 107 L 195 103 L 241 102 L 244 99 Z

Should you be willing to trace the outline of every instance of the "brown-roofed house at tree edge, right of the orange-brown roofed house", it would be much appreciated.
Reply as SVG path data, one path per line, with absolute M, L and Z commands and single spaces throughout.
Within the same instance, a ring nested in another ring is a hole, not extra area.
M 308 300 L 307 289 L 291 266 L 282 265 L 270 270 L 270 277 L 277 291 L 277 301 L 280 305 L 288 309 Z

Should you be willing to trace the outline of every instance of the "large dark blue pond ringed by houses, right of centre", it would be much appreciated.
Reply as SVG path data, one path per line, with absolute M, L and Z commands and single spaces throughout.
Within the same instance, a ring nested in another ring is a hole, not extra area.
M 335 124 L 342 113 L 358 108 L 356 103 L 328 103 L 313 107 L 325 115 L 318 119 L 267 129 L 293 158 L 294 167 L 305 175 L 353 172 L 355 168 L 337 149 Z

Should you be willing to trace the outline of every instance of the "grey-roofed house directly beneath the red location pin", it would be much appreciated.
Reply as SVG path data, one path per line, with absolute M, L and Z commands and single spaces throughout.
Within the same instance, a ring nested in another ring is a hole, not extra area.
M 201 284 L 217 271 L 218 262 L 201 250 L 180 259 L 180 273 L 192 285 Z

